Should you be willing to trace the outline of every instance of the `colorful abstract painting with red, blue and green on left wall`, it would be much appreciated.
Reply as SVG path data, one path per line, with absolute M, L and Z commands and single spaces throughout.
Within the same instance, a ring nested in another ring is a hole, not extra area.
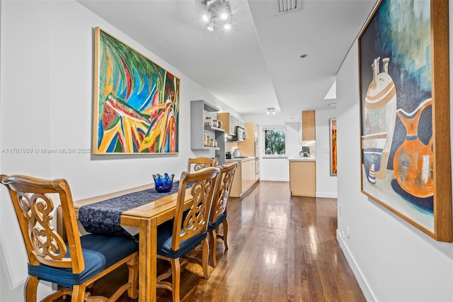
M 178 152 L 180 79 L 95 28 L 93 154 Z

